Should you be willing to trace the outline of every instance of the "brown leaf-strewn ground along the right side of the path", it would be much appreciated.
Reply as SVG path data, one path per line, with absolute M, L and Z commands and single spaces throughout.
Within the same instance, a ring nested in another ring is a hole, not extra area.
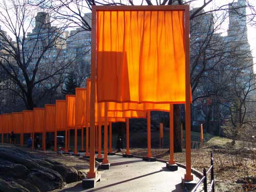
M 125 151 L 123 151 L 124 153 Z M 210 167 L 210 153 L 214 153 L 214 172 L 216 191 L 256 191 L 256 152 L 241 150 L 226 150 L 214 148 L 200 148 L 191 151 L 192 167 L 203 172 L 203 168 Z M 146 156 L 146 148 L 131 148 L 131 153 Z M 168 149 L 152 149 L 153 157 L 168 160 Z M 185 152 L 175 153 L 175 160 L 185 164 Z M 208 176 L 210 178 L 210 176 Z M 248 178 L 248 180 L 246 180 Z M 250 181 L 251 179 L 251 181 Z M 254 179 L 254 184 L 253 183 Z M 240 182 L 240 183 L 238 183 Z M 247 184 L 241 184 L 245 182 Z

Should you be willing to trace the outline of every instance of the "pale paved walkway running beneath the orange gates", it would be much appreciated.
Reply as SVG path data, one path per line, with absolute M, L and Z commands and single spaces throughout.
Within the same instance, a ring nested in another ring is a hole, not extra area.
M 80 182 L 60 191 L 184 191 L 181 184 L 181 177 L 185 174 L 183 168 L 179 167 L 176 172 L 170 172 L 162 162 L 146 162 L 139 158 L 123 158 L 117 155 L 109 156 L 109 160 L 109 170 L 98 170 L 101 181 L 97 182 L 95 188 L 84 190 Z M 196 176 L 194 178 L 199 180 Z

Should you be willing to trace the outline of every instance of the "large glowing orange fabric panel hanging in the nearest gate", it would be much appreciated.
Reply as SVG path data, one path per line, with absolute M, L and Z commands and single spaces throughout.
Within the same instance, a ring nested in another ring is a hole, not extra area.
M 98 102 L 185 102 L 184 11 L 97 11 Z

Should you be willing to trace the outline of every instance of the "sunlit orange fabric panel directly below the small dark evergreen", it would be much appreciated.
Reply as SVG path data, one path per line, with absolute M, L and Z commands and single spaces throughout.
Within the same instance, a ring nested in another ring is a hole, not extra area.
M 75 95 L 66 95 L 66 120 L 67 127 L 75 127 L 75 107 L 76 107 L 76 96 Z

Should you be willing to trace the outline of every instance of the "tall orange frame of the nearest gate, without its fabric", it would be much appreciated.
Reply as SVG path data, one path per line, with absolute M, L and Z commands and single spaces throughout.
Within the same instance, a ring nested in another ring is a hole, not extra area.
M 184 11 L 184 46 L 185 46 L 185 130 L 186 130 L 186 174 L 185 180 L 193 180 L 191 175 L 191 146 L 190 146 L 190 58 L 189 58 L 189 6 L 92 6 L 92 41 L 91 41 L 91 116 L 90 116 L 90 170 L 88 178 L 97 176 L 95 171 L 95 81 L 96 81 L 96 13 L 97 11 Z

